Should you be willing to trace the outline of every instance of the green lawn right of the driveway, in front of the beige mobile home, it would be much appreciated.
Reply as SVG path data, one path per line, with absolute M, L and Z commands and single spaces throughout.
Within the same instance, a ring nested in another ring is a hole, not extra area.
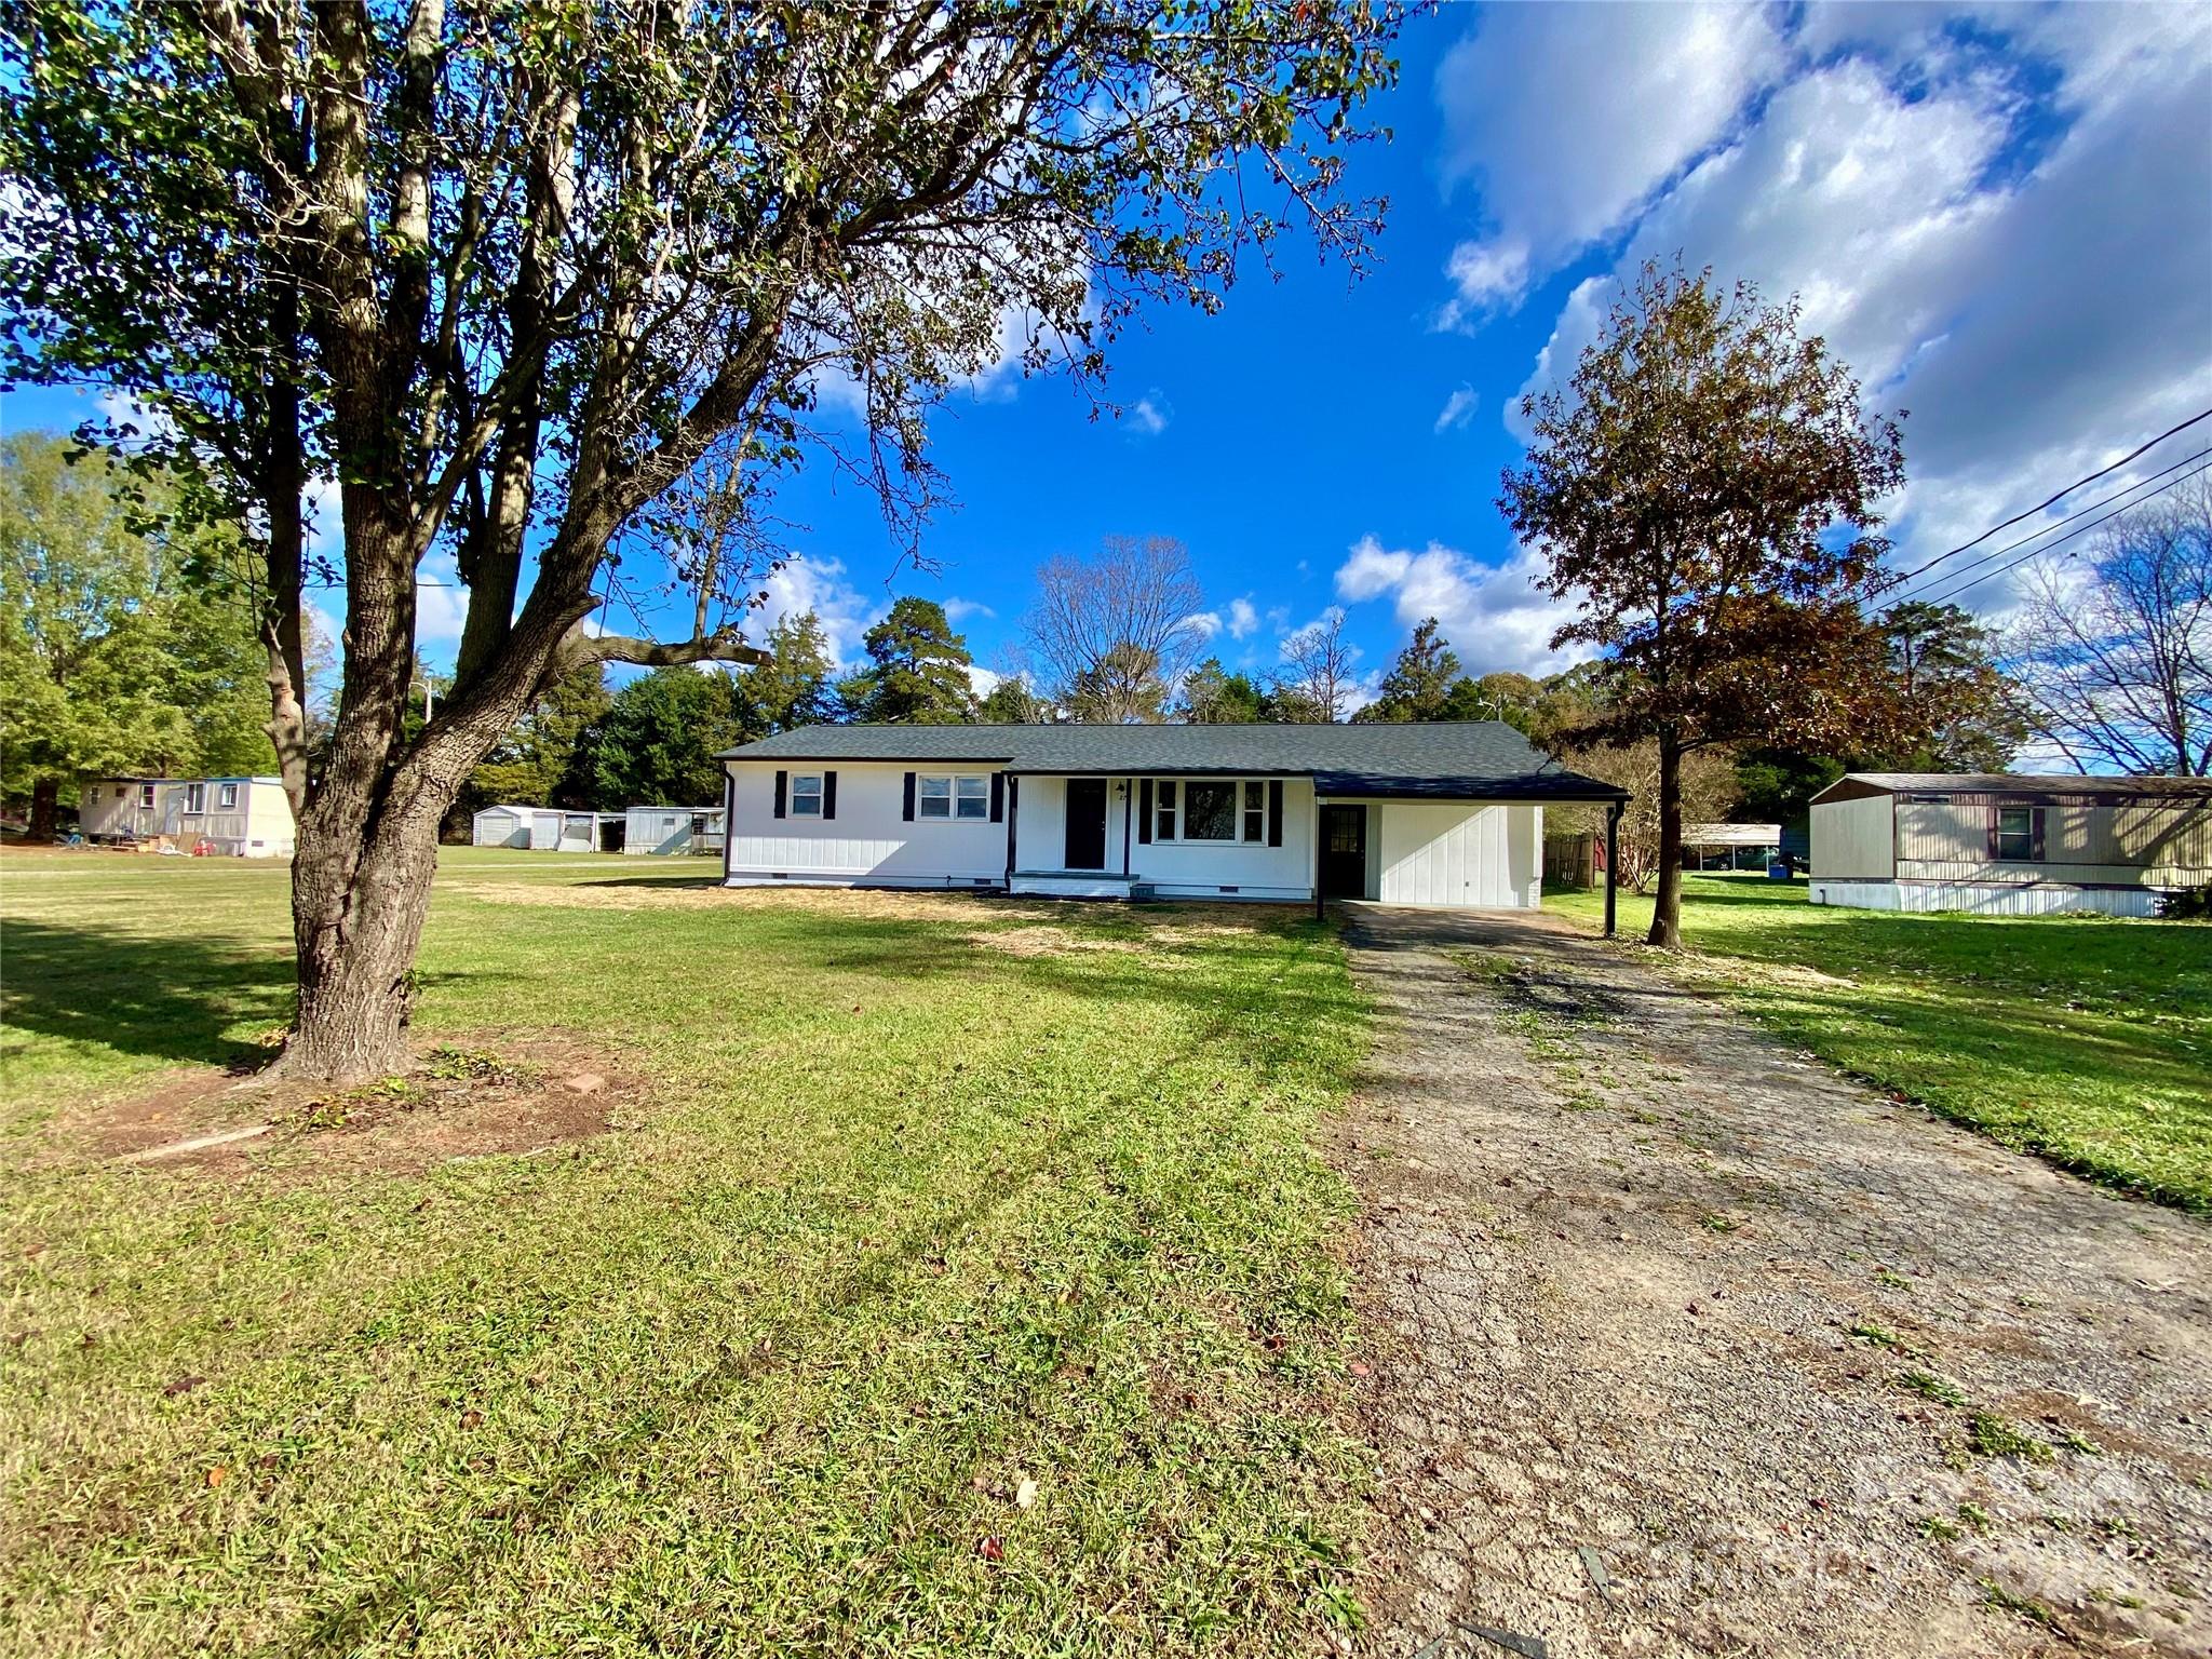
M 1586 927 L 1604 894 L 1551 894 Z M 1650 898 L 1621 894 L 1621 938 Z M 2212 925 L 1893 916 L 1690 876 L 1674 971 L 2006 1146 L 2212 1212 Z

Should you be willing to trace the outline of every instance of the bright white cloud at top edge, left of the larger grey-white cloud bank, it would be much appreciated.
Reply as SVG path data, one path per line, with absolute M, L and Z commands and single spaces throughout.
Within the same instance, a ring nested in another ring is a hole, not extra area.
M 1451 254 L 1460 307 L 1528 281 L 1621 226 L 1723 139 L 1787 62 L 1763 7 L 1489 7 L 1436 73 L 1444 179 L 1473 179 L 1493 232 Z

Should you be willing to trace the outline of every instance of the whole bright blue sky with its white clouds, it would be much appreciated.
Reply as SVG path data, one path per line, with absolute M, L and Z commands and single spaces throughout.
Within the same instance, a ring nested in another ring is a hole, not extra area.
M 790 482 L 770 615 L 816 608 L 852 657 L 925 593 L 1006 666 L 1040 560 L 1175 535 L 1234 666 L 1327 606 L 1369 675 L 1431 613 L 1473 670 L 1559 666 L 1498 473 L 1520 394 L 1646 254 L 1803 294 L 1869 398 L 1911 409 L 1900 562 L 2212 405 L 2212 7 L 1447 7 L 1400 55 L 1394 137 L 1347 166 L 1391 199 L 1367 279 L 1292 241 L 1221 316 L 1148 314 L 1113 356 L 1119 420 L 1011 372 L 949 400 L 933 573 L 898 568 L 849 482 Z M 1960 597 L 2002 619 L 2013 580 Z M 425 602 L 434 661 L 451 597 Z

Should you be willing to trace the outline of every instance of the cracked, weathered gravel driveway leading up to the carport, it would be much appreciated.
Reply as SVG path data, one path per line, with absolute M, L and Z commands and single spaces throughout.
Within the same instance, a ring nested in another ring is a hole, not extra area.
M 2212 1652 L 2212 1225 L 1347 907 L 1380 1655 Z

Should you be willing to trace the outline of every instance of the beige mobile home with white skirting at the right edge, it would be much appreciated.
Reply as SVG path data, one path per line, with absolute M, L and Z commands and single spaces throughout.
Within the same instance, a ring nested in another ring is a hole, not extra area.
M 2212 779 L 1851 772 L 1812 799 L 1812 902 L 2150 916 L 2212 883 Z

